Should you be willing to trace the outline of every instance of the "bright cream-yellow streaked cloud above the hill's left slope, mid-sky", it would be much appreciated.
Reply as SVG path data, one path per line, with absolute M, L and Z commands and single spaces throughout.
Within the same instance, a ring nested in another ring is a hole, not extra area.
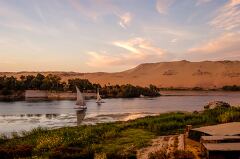
M 87 64 L 91 67 L 135 66 L 139 63 L 160 61 L 166 53 L 144 38 L 115 41 L 112 45 L 124 52 L 114 54 L 115 56 L 107 52 L 88 52 L 90 57 Z

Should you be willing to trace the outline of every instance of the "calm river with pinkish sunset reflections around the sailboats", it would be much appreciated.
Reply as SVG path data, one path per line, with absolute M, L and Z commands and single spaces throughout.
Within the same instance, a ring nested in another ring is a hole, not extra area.
M 157 98 L 104 99 L 97 105 L 87 100 L 85 112 L 74 109 L 75 101 L 0 102 L 0 133 L 20 132 L 36 127 L 58 128 L 80 124 L 126 121 L 171 111 L 202 110 L 210 101 L 240 105 L 240 92 L 162 92 Z

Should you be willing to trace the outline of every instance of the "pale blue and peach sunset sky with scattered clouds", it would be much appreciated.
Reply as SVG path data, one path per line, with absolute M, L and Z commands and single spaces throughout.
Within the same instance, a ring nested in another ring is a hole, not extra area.
M 0 0 L 0 71 L 240 60 L 240 0 Z

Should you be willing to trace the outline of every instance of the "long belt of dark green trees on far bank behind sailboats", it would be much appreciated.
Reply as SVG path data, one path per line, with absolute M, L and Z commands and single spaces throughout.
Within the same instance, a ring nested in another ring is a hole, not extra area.
M 93 84 L 87 79 L 69 79 L 68 82 L 61 80 L 59 76 L 49 74 L 44 76 L 37 74 L 36 76 L 28 75 L 21 76 L 17 79 L 13 76 L 0 77 L 0 94 L 11 95 L 13 93 L 24 90 L 48 90 L 48 91 L 72 91 L 76 92 L 75 86 L 81 91 L 96 92 L 100 89 L 100 93 L 104 97 L 139 97 L 144 96 L 159 96 L 159 89 L 150 85 L 149 87 L 139 87 L 130 84 L 127 85 L 105 85 L 101 87 L 100 84 Z

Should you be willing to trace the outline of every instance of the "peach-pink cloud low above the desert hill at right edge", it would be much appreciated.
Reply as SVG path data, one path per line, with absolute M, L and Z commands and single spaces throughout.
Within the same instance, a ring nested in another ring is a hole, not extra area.
M 207 43 L 189 49 L 191 56 L 230 58 L 239 56 L 240 33 L 224 33 Z M 209 58 L 208 58 L 209 59 Z

